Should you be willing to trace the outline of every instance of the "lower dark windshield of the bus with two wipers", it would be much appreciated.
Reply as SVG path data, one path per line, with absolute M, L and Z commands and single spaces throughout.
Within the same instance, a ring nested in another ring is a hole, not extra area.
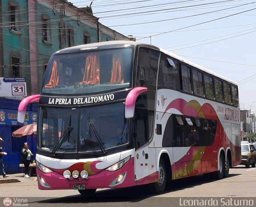
M 96 152 L 126 144 L 124 103 L 83 108 L 40 107 L 39 148 L 58 153 Z M 42 121 L 41 121 L 42 120 Z

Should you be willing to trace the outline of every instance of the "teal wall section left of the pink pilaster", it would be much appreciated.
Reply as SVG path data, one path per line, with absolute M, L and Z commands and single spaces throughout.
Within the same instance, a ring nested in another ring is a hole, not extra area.
M 10 3 L 17 4 L 16 28 L 18 32 L 10 29 Z M 30 85 L 30 57 L 29 57 L 29 35 L 28 35 L 28 12 L 27 0 L 2 0 L 2 22 L 3 33 L 3 56 L 4 56 L 4 77 L 12 77 L 12 56 L 20 58 L 20 76 L 26 77 L 27 85 Z M 27 89 L 30 94 L 30 87 Z

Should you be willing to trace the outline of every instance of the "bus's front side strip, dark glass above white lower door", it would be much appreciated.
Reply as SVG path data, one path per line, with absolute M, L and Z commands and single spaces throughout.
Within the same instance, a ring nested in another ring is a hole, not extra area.
M 148 154 L 148 142 L 154 130 L 159 56 L 159 51 L 146 47 L 139 49 L 136 87 L 146 87 L 148 90 L 138 96 L 134 113 L 135 171 L 138 184 L 149 182 L 149 159 L 153 159 Z

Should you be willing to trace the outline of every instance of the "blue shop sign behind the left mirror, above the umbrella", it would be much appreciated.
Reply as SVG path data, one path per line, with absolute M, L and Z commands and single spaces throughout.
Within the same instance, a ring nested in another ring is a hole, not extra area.
M 18 110 L 0 109 L 0 126 L 1 125 L 17 125 L 23 126 L 36 123 L 37 114 L 33 111 L 27 111 L 25 114 L 24 123 L 17 121 Z

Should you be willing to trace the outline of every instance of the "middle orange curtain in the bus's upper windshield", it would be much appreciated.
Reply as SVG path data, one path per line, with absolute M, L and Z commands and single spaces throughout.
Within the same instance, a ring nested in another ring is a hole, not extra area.
M 100 83 L 100 62 L 98 54 L 88 55 L 86 58 L 84 78 L 80 84 L 99 84 Z

